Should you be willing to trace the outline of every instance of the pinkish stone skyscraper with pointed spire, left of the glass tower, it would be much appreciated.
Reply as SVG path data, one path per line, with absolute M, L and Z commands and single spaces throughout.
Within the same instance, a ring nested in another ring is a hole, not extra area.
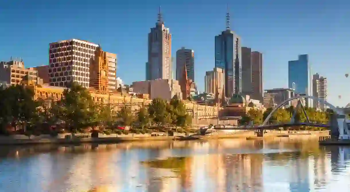
M 164 26 L 159 7 L 158 21 L 148 34 L 146 80 L 172 79 L 172 35 Z

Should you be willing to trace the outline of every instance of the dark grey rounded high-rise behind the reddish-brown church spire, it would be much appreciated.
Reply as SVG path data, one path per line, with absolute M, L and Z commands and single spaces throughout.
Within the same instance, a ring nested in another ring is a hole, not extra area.
M 183 69 L 186 67 L 187 78 L 195 81 L 195 53 L 191 49 L 181 49 L 176 51 L 176 80 L 183 77 Z

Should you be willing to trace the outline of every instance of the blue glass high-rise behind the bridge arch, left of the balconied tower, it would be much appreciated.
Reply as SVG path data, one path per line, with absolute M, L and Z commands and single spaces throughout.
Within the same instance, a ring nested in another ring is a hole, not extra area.
M 296 94 L 310 94 L 309 56 L 299 55 L 298 60 L 288 61 L 288 87 Z M 309 99 L 306 104 L 309 106 Z

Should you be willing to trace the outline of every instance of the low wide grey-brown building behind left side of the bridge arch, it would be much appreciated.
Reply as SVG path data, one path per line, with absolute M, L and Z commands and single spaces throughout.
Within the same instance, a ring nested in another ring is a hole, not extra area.
M 294 97 L 294 95 L 294 90 L 291 88 L 265 89 L 263 104 L 266 108 L 273 107 Z M 291 102 L 288 105 L 291 105 Z

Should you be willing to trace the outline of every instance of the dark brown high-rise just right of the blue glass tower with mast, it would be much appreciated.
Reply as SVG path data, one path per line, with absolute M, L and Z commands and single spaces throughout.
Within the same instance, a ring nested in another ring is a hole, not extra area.
M 242 92 L 262 102 L 262 53 L 242 47 Z

